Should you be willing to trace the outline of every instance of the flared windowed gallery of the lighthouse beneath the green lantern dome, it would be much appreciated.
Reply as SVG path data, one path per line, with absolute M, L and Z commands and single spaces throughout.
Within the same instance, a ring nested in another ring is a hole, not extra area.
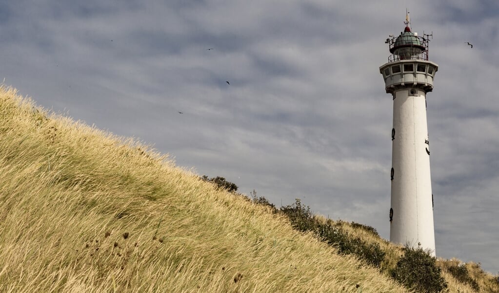
M 385 80 L 387 93 L 411 87 L 431 92 L 438 65 L 425 60 L 400 60 L 388 62 L 382 65 L 379 70 Z

